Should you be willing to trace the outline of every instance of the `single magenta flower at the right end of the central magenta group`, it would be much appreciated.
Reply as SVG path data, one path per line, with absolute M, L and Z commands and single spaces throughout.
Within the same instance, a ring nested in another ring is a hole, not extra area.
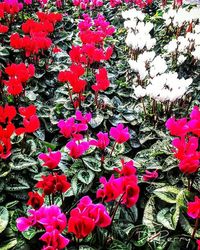
M 124 143 L 130 139 L 128 128 L 124 128 L 123 124 L 118 124 L 117 127 L 110 129 L 110 136 L 119 144 Z

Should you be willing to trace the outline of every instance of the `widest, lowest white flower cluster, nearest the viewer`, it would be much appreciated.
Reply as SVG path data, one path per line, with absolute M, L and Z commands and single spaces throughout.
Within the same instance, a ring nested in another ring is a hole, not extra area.
M 186 93 L 191 84 L 191 78 L 179 79 L 177 73 L 164 73 L 151 79 L 147 87 L 135 87 L 134 92 L 138 98 L 150 96 L 156 101 L 174 102 Z

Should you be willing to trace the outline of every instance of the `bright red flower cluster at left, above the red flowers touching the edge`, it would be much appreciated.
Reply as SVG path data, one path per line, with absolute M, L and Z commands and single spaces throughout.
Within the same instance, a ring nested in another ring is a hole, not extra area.
M 26 82 L 34 76 L 35 67 L 33 64 L 26 66 L 24 63 L 12 63 L 5 68 L 5 73 L 9 76 L 7 81 L 3 81 L 7 87 L 8 94 L 19 95 L 24 90 Z

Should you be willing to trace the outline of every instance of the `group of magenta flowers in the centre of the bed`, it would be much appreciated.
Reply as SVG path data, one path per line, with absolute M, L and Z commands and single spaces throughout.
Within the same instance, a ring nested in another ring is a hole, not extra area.
M 58 122 L 60 133 L 65 138 L 71 139 L 66 144 L 66 147 L 69 149 L 69 155 L 74 159 L 82 156 L 90 146 L 96 146 L 100 150 L 105 150 L 105 148 L 110 143 L 108 133 L 103 132 L 99 132 L 97 134 L 98 140 L 91 139 L 88 141 L 87 138 L 84 139 L 83 133 L 88 130 L 88 123 L 90 122 L 91 118 L 91 113 L 86 113 L 83 115 L 81 111 L 77 110 L 75 113 L 75 118 L 70 117 L 66 121 L 60 120 Z M 118 124 L 117 127 L 111 127 L 110 136 L 115 140 L 114 146 L 117 143 L 121 144 L 130 139 L 128 128 L 124 128 L 123 124 Z

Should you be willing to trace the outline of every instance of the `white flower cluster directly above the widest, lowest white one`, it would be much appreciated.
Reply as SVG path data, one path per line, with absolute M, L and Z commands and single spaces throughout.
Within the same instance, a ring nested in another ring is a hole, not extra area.
M 140 80 L 147 76 L 151 78 L 164 73 L 167 70 L 167 63 L 160 55 L 156 56 L 154 51 L 145 51 L 140 54 L 137 60 L 129 60 L 131 69 L 138 73 Z

